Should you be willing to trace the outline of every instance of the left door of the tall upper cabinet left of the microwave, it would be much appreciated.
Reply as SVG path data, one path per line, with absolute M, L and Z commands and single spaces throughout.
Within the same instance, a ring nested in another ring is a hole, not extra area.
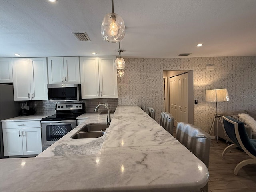
M 29 58 L 12 58 L 15 101 L 31 100 Z

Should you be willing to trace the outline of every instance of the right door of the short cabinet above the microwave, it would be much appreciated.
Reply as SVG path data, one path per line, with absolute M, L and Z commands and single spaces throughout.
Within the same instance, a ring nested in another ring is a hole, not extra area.
M 68 84 L 80 83 L 79 58 L 64 57 L 64 82 Z

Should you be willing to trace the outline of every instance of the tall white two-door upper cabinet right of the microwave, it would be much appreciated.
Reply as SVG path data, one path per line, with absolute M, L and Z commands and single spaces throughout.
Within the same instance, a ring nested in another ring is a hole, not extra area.
M 82 99 L 118 98 L 116 56 L 80 57 Z

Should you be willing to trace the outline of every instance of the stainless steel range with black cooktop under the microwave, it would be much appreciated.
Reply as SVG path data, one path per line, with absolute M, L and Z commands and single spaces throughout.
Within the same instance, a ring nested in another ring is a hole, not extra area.
M 55 110 L 56 114 L 41 120 L 42 150 L 54 144 L 77 126 L 76 117 L 85 112 L 85 104 L 56 104 Z

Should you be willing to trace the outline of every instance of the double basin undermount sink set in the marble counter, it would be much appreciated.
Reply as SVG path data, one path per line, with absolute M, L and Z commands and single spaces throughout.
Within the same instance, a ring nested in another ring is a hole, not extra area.
M 106 123 L 88 124 L 81 128 L 72 139 L 98 138 L 106 134 L 108 125 Z

